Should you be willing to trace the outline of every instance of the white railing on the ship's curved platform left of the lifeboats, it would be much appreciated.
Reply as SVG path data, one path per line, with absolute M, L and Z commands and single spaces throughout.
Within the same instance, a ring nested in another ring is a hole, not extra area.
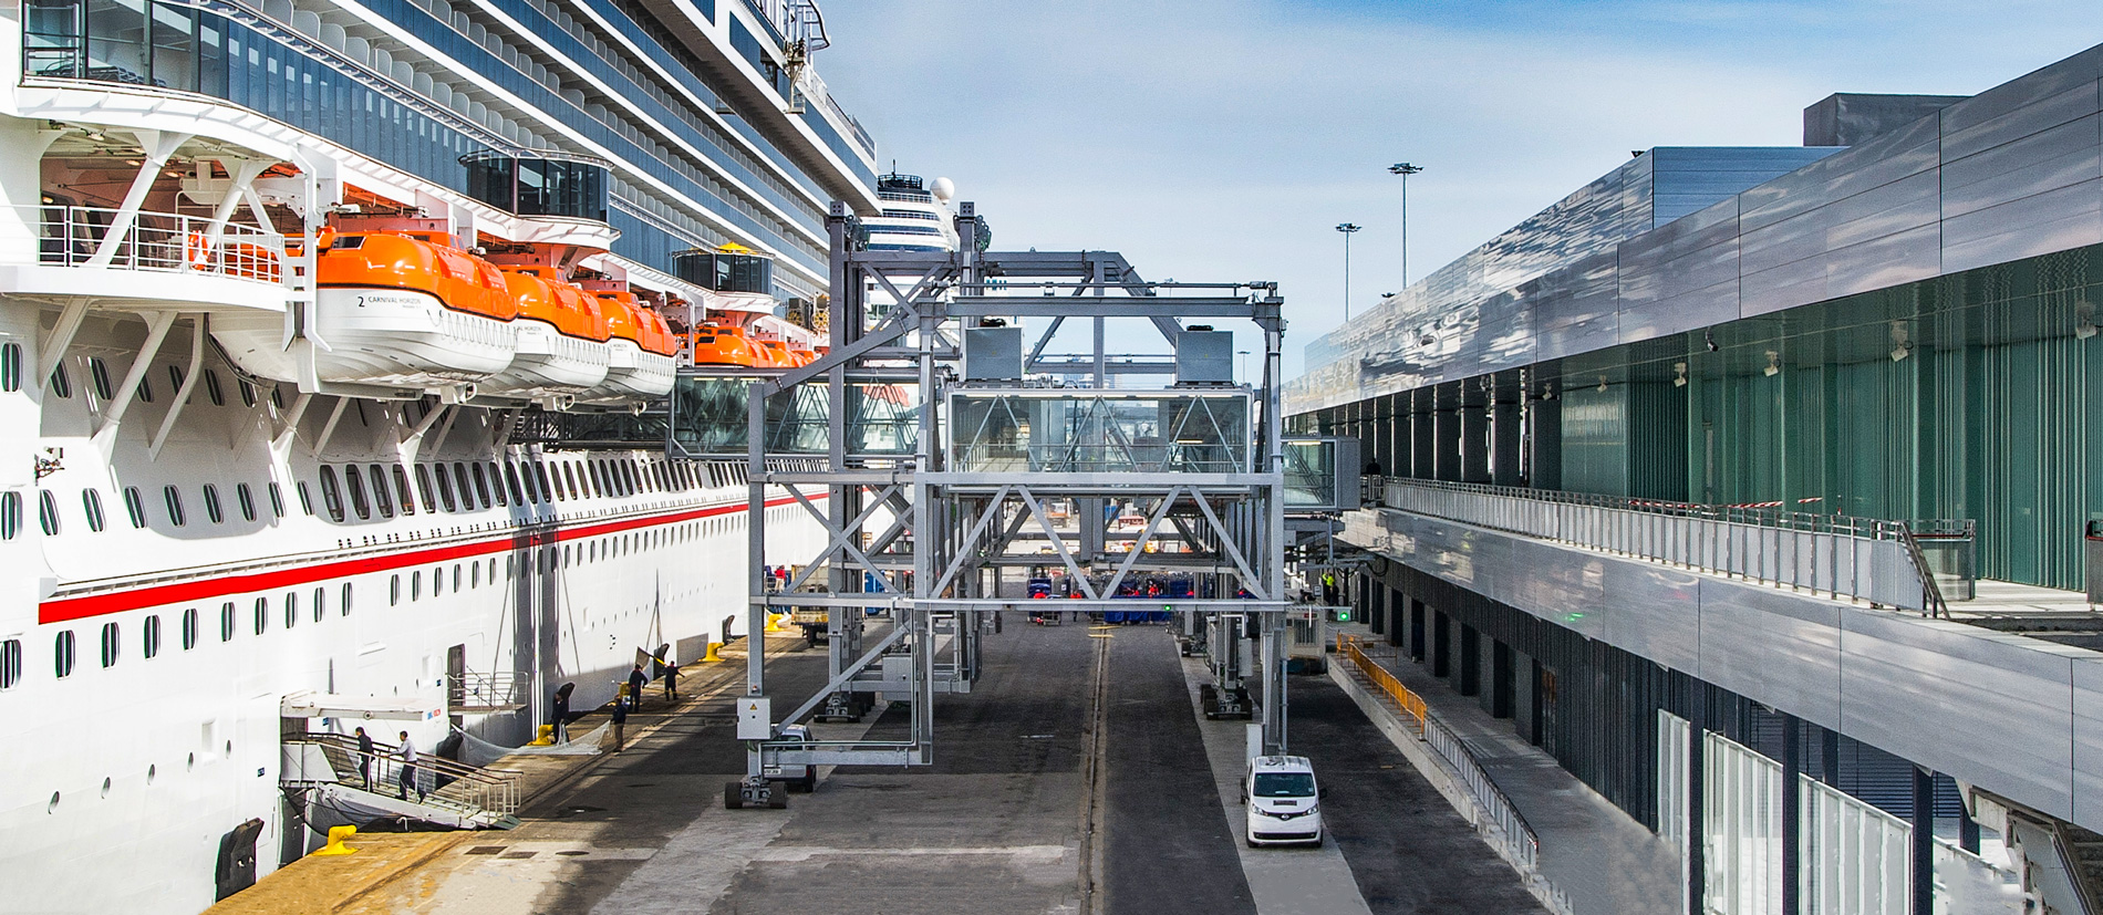
M 109 206 L 15 206 L 34 227 L 29 246 L 0 246 L 0 261 L 59 267 L 145 269 L 280 282 L 286 238 L 242 223 L 183 212 Z

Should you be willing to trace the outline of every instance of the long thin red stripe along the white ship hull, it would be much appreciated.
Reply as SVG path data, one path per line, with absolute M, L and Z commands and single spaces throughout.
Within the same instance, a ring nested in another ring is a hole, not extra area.
M 824 499 L 822 494 L 816 499 Z M 774 499 L 768 503 L 770 509 L 795 505 L 795 499 Z M 435 562 L 450 562 L 469 555 L 490 555 L 505 553 L 511 549 L 532 549 L 545 547 L 559 541 L 576 541 L 585 536 L 620 534 L 639 528 L 656 528 L 660 524 L 692 522 L 698 517 L 719 517 L 744 511 L 744 505 L 719 505 L 713 509 L 692 509 L 671 515 L 652 517 L 631 517 L 622 522 L 587 524 L 574 530 L 551 530 L 536 534 L 511 534 L 511 536 L 490 536 L 471 543 L 452 543 L 446 547 L 416 549 L 406 553 L 385 553 L 368 555 L 358 560 L 341 562 L 320 562 L 294 568 L 273 568 L 269 572 L 250 574 L 223 574 L 217 578 L 181 581 L 172 585 L 151 585 L 137 587 L 128 591 L 90 593 L 80 597 L 48 599 L 36 606 L 36 621 L 46 623 L 67 623 L 88 616 L 105 616 L 124 610 L 143 610 L 151 606 L 168 604 L 189 604 L 206 602 L 212 597 L 225 597 L 229 593 L 252 593 L 252 591 L 275 591 L 282 587 L 311 585 L 318 581 L 347 578 L 353 574 L 387 572 L 395 568 L 410 568 Z

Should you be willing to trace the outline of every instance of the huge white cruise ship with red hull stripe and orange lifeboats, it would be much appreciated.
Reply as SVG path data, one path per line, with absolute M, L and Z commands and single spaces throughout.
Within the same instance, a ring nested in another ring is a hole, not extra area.
M 742 459 L 549 429 L 810 360 L 829 204 L 894 206 L 810 0 L 0 17 L 0 909 L 202 911 L 318 843 L 290 743 L 742 635 Z

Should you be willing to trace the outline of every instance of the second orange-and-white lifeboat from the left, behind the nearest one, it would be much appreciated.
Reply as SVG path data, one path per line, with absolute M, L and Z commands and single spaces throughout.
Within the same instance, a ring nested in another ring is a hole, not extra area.
M 562 400 L 591 391 L 612 370 L 612 330 L 599 301 L 553 267 L 501 267 L 517 299 L 517 353 L 482 383 L 496 398 Z

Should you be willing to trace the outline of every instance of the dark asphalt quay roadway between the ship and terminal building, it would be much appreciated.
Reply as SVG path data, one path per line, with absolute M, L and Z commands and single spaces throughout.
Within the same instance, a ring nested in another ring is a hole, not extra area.
M 1304 911 L 1255 904 L 1239 810 L 1222 808 L 1163 627 L 1030 627 L 1012 614 L 984 663 L 974 692 L 936 696 L 934 766 L 839 768 L 789 810 L 723 810 L 723 782 L 744 770 L 726 692 L 654 721 L 522 810 L 519 829 L 433 860 L 391 892 L 389 911 Z M 768 692 L 782 709 L 822 675 L 822 650 L 784 654 L 768 665 Z M 816 732 L 900 736 L 904 711 Z M 1541 911 L 1327 679 L 1291 679 L 1291 738 L 1331 789 L 1323 812 L 1369 911 Z

